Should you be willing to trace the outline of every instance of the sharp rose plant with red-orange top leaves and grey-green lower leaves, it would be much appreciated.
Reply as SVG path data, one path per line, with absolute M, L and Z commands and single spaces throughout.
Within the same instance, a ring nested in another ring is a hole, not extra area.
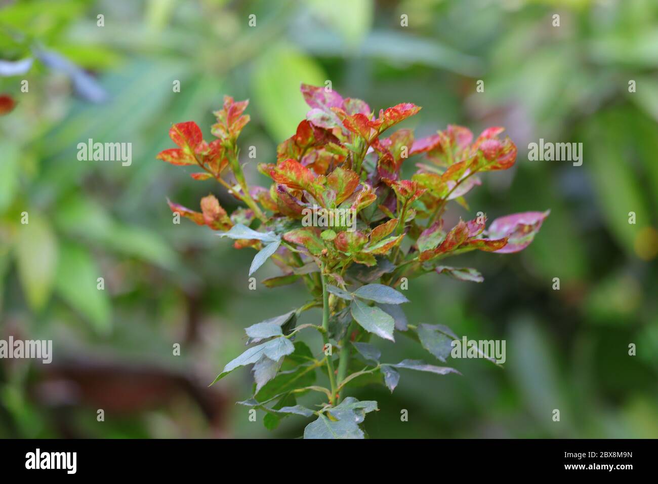
M 215 382 L 253 365 L 253 396 L 240 404 L 265 411 L 266 427 L 298 414 L 313 419 L 305 438 L 363 438 L 362 423 L 378 410 L 377 402 L 344 396 L 346 389 L 382 383 L 393 391 L 400 369 L 458 373 L 419 360 L 381 361 L 380 350 L 369 342 L 372 335 L 394 341 L 397 331 L 441 362 L 459 339 L 444 325 L 410 324 L 401 308 L 409 300 L 397 288 L 430 272 L 481 282 L 476 269 L 444 265 L 445 259 L 472 250 L 519 252 L 549 212 L 507 215 L 488 229 L 484 215 L 445 227 L 448 202 L 468 207 L 464 196 L 480 185 L 478 175 L 515 163 L 517 147 L 499 138 L 503 128 L 488 128 L 473 140 L 467 128 L 447 126 L 415 139 L 412 130 L 389 130 L 418 113 L 416 105 L 401 103 L 375 117 L 360 99 L 306 84 L 301 93 L 311 107 L 306 119 L 278 146 L 276 163 L 258 166 L 272 178 L 269 188 L 248 184 L 239 161 L 238 136 L 249 122 L 248 101 L 224 97 L 215 112 L 212 142 L 203 140 L 195 122 L 174 124 L 169 134 L 178 148 L 157 157 L 198 167 L 192 178 L 214 178 L 244 205 L 229 215 L 208 195 L 200 211 L 168 202 L 172 211 L 233 239 L 235 248 L 256 250 L 249 276 L 271 257 L 282 273 L 265 279 L 265 286 L 302 281 L 310 294 L 301 308 L 247 327 L 247 344 L 253 346 L 229 362 Z M 411 180 L 402 179 L 405 159 L 419 156 Z M 345 224 L 340 217 L 326 223 L 328 213 L 340 210 L 354 216 L 351 225 L 336 225 Z M 309 225 L 309 213 L 319 214 L 313 220 L 322 226 Z M 303 311 L 316 307 L 322 308 L 321 323 L 297 325 Z M 305 330 L 322 336 L 321 351 L 295 341 Z M 318 371 L 327 386 L 316 383 Z M 316 408 L 298 404 L 297 397 L 307 392 L 320 392 L 326 402 Z

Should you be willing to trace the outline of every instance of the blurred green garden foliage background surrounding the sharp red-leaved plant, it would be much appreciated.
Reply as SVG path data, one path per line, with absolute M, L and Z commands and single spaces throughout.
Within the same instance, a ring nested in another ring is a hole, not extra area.
M 461 256 L 482 284 L 411 282 L 410 322 L 505 339 L 507 362 L 354 390 L 380 404 L 370 436 L 658 437 L 655 1 L 2 0 L 0 59 L 26 58 L 25 74 L 0 76 L 17 101 L 0 117 L 0 338 L 52 339 L 54 356 L 0 361 L 0 437 L 301 435 L 302 417 L 270 432 L 234 404 L 250 395 L 247 369 L 207 385 L 243 350 L 243 328 L 301 306 L 303 286 L 248 290 L 253 252 L 173 225 L 166 197 L 234 201 L 155 155 L 172 122 L 210 139 L 230 94 L 251 100 L 242 146 L 271 162 L 307 111 L 299 84 L 325 80 L 374 109 L 422 106 L 406 123 L 417 136 L 507 127 L 516 167 L 485 176 L 454 217 L 551 209 L 526 251 Z M 88 138 L 132 142 L 132 165 L 78 161 Z M 582 142 L 582 166 L 528 161 L 539 138 Z M 253 161 L 247 173 L 261 176 Z M 257 276 L 276 274 L 268 263 Z M 405 338 L 376 343 L 387 362 L 432 361 Z

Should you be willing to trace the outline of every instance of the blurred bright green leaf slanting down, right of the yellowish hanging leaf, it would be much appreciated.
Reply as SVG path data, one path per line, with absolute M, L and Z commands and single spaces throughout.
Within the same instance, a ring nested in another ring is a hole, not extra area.
M 82 246 L 62 246 L 57 264 L 55 291 L 70 306 L 89 319 L 99 333 L 111 327 L 111 305 L 106 290 L 97 288 L 102 273 L 89 251 Z

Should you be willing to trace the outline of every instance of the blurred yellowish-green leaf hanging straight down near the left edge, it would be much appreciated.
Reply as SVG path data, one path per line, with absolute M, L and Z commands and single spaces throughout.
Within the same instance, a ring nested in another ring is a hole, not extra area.
M 50 298 L 57 267 L 57 238 L 38 213 L 29 214 L 29 223 L 18 226 L 14 253 L 18 277 L 32 309 L 41 309 Z M 90 281 L 95 289 L 95 280 Z

